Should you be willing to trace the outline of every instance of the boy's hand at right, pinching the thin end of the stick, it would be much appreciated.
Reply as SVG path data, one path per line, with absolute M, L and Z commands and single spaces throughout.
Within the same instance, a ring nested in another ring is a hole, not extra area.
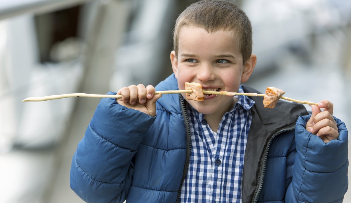
M 306 130 L 320 137 L 325 143 L 338 139 L 339 132 L 333 118 L 333 103 L 328 100 L 312 105 L 312 116 L 306 124 Z M 323 111 L 320 108 L 324 108 Z

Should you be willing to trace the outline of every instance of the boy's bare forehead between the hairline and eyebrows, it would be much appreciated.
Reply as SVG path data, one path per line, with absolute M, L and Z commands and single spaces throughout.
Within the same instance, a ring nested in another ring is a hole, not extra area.
M 209 32 L 196 26 L 184 26 L 179 30 L 178 51 L 208 49 L 214 52 L 232 52 L 240 54 L 237 32 L 223 30 Z

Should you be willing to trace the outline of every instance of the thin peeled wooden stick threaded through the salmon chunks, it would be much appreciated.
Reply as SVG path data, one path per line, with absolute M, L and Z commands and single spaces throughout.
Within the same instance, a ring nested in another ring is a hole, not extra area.
M 192 90 L 165 90 L 165 91 L 157 91 L 155 94 L 179 94 L 179 93 L 192 93 Z M 257 94 L 257 93 L 240 93 L 240 92 L 227 92 L 227 91 L 203 91 L 204 94 L 218 94 L 218 95 L 227 95 L 227 96 L 235 96 L 235 95 L 245 95 L 249 97 L 264 97 L 265 94 Z M 71 93 L 71 94 L 58 94 L 58 95 L 51 95 L 45 97 L 28 97 L 22 102 L 43 102 L 47 100 L 53 99 L 63 99 L 68 97 L 90 97 L 90 98 L 122 98 L 121 94 L 87 94 L 87 93 Z M 313 103 L 309 101 L 301 101 L 296 99 L 291 99 L 288 97 L 280 97 L 280 99 L 285 99 L 291 102 L 296 102 L 300 104 L 308 104 L 308 105 L 318 105 L 318 103 Z

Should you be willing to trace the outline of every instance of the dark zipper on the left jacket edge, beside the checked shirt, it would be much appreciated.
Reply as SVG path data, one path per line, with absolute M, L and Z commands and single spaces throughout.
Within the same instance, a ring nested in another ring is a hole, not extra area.
M 185 165 L 184 165 L 184 170 L 183 170 L 183 177 L 181 179 L 179 190 L 178 190 L 176 203 L 179 202 L 180 193 L 181 193 L 181 187 L 183 186 L 183 182 L 185 180 L 186 174 L 188 173 L 189 163 L 190 163 L 190 156 L 191 156 L 190 124 L 189 124 L 188 115 L 186 113 L 186 108 L 185 108 L 185 104 L 184 104 L 184 101 L 183 101 L 183 96 L 181 94 L 179 94 L 179 101 L 180 101 L 181 113 L 183 114 L 185 130 L 186 130 L 186 160 L 185 160 Z

